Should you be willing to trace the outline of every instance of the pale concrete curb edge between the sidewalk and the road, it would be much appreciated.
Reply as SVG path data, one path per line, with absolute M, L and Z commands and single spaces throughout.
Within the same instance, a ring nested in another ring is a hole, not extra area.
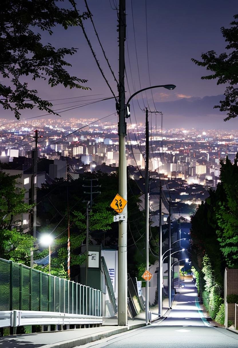
M 137 329 L 139 327 L 146 326 L 145 323 L 133 324 L 130 326 L 120 326 L 117 329 L 111 329 L 108 331 L 103 331 L 100 333 L 90 334 L 84 337 L 76 338 L 73 340 L 67 340 L 62 342 L 53 343 L 50 345 L 43 345 L 38 348 L 73 348 L 76 346 L 85 345 L 86 343 L 90 343 L 93 341 L 101 340 L 102 338 L 110 337 L 112 335 L 116 335 L 121 332 L 126 332 L 129 330 Z

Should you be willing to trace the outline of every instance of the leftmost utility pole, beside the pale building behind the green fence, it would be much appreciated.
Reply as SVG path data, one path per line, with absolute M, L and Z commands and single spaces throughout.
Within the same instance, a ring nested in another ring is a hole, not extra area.
M 37 147 L 38 147 L 38 130 L 35 130 L 35 150 L 31 151 L 32 157 L 32 177 L 31 177 L 31 204 L 34 204 L 31 213 L 31 229 L 33 237 L 36 238 L 36 217 L 37 217 Z M 33 267 L 33 248 L 31 250 L 30 266 Z

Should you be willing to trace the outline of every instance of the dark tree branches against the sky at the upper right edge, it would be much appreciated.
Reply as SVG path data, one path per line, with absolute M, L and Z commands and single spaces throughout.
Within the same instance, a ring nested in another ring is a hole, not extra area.
M 238 19 L 238 14 L 234 16 Z M 202 80 L 217 79 L 217 85 L 226 84 L 224 96 L 225 100 L 220 101 L 220 105 L 215 105 L 220 111 L 227 112 L 227 117 L 224 121 L 238 116 L 238 21 L 234 20 L 230 23 L 231 27 L 225 29 L 221 27 L 221 32 L 228 45 L 225 49 L 229 53 L 221 53 L 219 56 L 215 51 L 211 50 L 203 53 L 201 58 L 203 61 L 198 61 L 192 58 L 192 61 L 199 65 L 205 66 L 208 71 L 213 74 L 201 77 Z

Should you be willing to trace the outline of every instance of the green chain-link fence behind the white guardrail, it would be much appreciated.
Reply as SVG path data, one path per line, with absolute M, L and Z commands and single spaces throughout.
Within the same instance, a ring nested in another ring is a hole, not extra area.
M 0 259 L 0 311 L 14 309 L 102 316 L 102 292 Z

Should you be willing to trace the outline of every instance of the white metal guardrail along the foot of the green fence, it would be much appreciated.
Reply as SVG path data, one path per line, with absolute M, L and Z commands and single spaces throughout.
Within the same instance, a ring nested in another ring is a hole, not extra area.
M 102 317 L 44 311 L 0 311 L 0 327 L 24 325 L 102 324 Z

